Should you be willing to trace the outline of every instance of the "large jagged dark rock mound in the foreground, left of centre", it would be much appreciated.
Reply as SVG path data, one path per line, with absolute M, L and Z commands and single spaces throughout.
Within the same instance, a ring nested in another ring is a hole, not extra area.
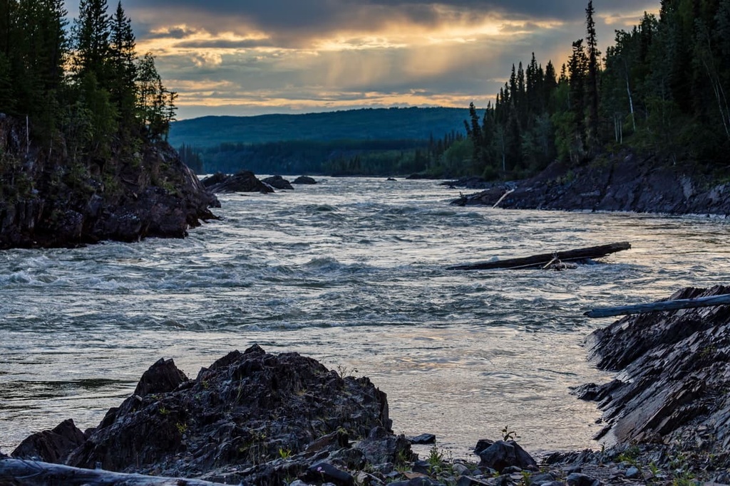
M 410 458 L 410 443 L 390 428 L 385 393 L 367 378 L 343 378 L 298 353 L 274 356 L 254 345 L 201 369 L 195 380 L 172 360 L 157 361 L 134 395 L 110 409 L 85 439 L 73 435 L 82 443 L 74 442 L 70 454 L 64 447 L 39 457 L 61 462 L 68 455 L 66 464 L 75 467 L 257 485 L 280 484 L 326 462 L 333 468 L 328 480 L 344 485 L 350 479 L 334 469 Z M 362 440 L 351 447 L 348 436 Z

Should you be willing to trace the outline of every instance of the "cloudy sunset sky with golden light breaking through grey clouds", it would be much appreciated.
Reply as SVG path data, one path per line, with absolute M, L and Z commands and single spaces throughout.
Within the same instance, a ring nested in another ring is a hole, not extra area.
M 110 12 L 118 0 L 107 0 Z M 78 0 L 66 0 L 69 17 Z M 123 0 L 177 119 L 486 106 L 534 52 L 556 70 L 583 0 Z M 594 0 L 599 48 L 659 0 Z

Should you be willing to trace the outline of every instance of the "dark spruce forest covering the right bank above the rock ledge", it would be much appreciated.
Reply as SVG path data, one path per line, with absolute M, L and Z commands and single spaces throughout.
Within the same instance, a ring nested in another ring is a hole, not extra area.
M 603 54 L 586 9 L 585 39 L 559 72 L 512 67 L 496 103 L 466 121 L 473 173 L 520 178 L 553 160 L 580 165 L 621 150 L 725 177 L 730 149 L 730 0 L 663 0 L 617 31 Z

